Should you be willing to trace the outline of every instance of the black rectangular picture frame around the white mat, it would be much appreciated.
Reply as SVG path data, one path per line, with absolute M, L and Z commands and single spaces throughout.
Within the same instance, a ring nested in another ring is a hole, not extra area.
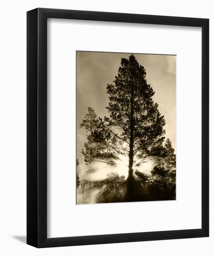
M 201 229 L 47 238 L 47 18 L 201 27 Z M 37 248 L 209 236 L 209 20 L 37 8 L 27 12 L 27 244 Z

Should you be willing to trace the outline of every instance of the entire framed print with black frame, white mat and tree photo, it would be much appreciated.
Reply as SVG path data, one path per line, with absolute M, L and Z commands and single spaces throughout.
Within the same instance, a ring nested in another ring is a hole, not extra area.
M 209 236 L 209 20 L 27 12 L 27 244 Z

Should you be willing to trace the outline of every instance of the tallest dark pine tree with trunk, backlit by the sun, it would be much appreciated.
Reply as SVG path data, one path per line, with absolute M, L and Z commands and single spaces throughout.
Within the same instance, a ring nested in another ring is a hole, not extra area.
M 97 120 L 94 136 L 108 141 L 112 152 L 129 156 L 128 181 L 133 180 L 134 156 L 145 159 L 161 152 L 164 140 L 164 117 L 154 103 L 155 94 L 147 83 L 145 68 L 135 56 L 121 59 L 118 75 L 107 85 L 109 117 Z

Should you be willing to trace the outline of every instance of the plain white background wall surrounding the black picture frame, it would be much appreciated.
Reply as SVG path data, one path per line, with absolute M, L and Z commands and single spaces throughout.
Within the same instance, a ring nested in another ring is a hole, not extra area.
M 212 188 L 214 135 L 210 134 L 210 237 L 139 243 L 35 249 L 26 240 L 26 11 L 36 7 L 187 16 L 210 19 L 213 70 L 214 7 L 210 0 L 20 0 L 4 1 L 0 13 L 0 253 L 1 255 L 206 255 L 214 254 Z M 210 72 L 211 73 L 211 72 Z M 210 130 L 214 90 L 210 74 Z M 175 220 L 176 221 L 176 220 Z

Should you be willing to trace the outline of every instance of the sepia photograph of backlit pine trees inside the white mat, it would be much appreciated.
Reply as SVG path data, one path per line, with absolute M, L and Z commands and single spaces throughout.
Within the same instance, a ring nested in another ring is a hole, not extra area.
M 76 203 L 176 200 L 176 55 L 76 52 Z

